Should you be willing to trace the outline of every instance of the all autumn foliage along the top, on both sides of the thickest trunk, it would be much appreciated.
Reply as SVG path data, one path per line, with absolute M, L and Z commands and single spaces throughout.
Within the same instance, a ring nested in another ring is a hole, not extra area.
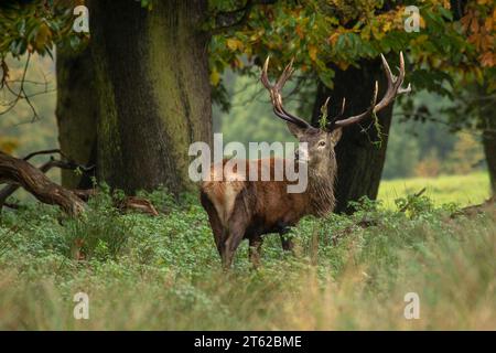
M 55 44 L 77 50 L 89 39 L 72 30 L 77 4 L 85 1 L 7 1 L 1 4 L 0 57 L 2 83 L 8 75 L 4 57 L 25 53 L 52 55 Z M 153 0 L 141 0 L 153 11 Z M 418 32 L 407 32 L 405 21 L 419 9 Z M 462 8 L 462 10 L 461 10 Z M 303 73 L 316 74 L 328 87 L 334 71 L 359 65 L 380 53 L 408 50 L 416 64 L 409 79 L 417 89 L 452 94 L 455 82 L 496 89 L 494 52 L 496 9 L 490 0 L 471 1 L 349 1 L 211 0 L 203 29 L 211 41 L 211 83 L 222 90 L 226 67 L 246 73 L 271 54 L 280 69 L 294 57 Z M 214 97 L 216 96 L 214 92 Z

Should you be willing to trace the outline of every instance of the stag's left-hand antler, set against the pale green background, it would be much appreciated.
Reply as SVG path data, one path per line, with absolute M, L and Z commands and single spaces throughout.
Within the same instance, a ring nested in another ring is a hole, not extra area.
M 313 128 L 309 122 L 306 122 L 302 118 L 299 118 L 298 116 L 288 113 L 284 109 L 284 106 L 282 105 L 281 90 L 284 87 L 284 84 L 288 81 L 288 78 L 290 78 L 291 74 L 293 73 L 293 60 L 291 60 L 289 65 L 285 66 L 284 71 L 282 72 L 277 83 L 274 85 L 271 85 L 267 76 L 267 69 L 269 68 L 269 58 L 270 56 L 267 56 L 260 76 L 260 81 L 270 93 L 270 100 L 272 101 L 273 113 L 281 119 L 292 122 L 301 128 Z

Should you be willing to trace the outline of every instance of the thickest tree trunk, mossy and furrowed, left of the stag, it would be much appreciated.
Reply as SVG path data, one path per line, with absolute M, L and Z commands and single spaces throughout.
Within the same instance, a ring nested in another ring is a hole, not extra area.
M 98 176 L 127 193 L 192 185 L 188 146 L 211 142 L 207 1 L 88 1 Z

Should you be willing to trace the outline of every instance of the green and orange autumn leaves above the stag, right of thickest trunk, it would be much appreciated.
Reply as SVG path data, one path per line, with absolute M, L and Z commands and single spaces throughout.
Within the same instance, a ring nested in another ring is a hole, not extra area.
M 222 8 L 223 3 L 226 2 L 212 1 L 214 8 Z M 473 1 L 461 13 L 446 0 L 230 3 L 249 13 L 212 41 L 214 86 L 222 85 L 219 73 L 225 67 L 242 72 L 270 54 L 276 69 L 280 71 L 294 57 L 294 65 L 303 73 L 315 73 L 332 87 L 334 71 L 330 63 L 345 69 L 380 53 L 408 51 L 407 58 L 414 64 L 414 74 L 409 79 L 416 89 L 450 95 L 455 78 L 464 84 L 487 83 L 492 92 L 496 88 L 496 81 L 492 79 L 496 64 L 496 10 L 492 1 Z M 419 9 L 418 32 L 405 29 L 405 21 L 411 15 L 407 6 Z

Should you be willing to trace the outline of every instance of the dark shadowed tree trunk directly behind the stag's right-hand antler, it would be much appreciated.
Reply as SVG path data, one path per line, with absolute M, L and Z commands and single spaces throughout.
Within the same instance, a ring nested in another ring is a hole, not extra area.
M 334 88 L 330 89 L 324 84 L 319 84 L 312 121 L 315 126 L 319 124 L 321 106 L 327 97 L 331 97 L 330 117 L 339 113 L 343 97 L 346 97 L 345 116 L 352 116 L 366 110 L 370 106 L 376 81 L 379 82 L 378 100 L 387 88 L 379 60 L 363 62 L 359 68 L 349 67 L 346 71 L 333 68 L 336 73 Z M 378 114 L 381 126 L 380 137 L 373 125 L 371 118 L 362 122 L 362 127 L 356 125 L 344 129 L 343 137 L 335 149 L 337 158 L 337 180 L 335 184 L 337 203 L 335 212 L 353 212 L 348 207 L 349 201 L 357 201 L 364 195 L 373 200 L 377 197 L 386 160 L 391 117 L 392 105 Z M 362 131 L 363 128 L 368 129 L 364 132 Z

